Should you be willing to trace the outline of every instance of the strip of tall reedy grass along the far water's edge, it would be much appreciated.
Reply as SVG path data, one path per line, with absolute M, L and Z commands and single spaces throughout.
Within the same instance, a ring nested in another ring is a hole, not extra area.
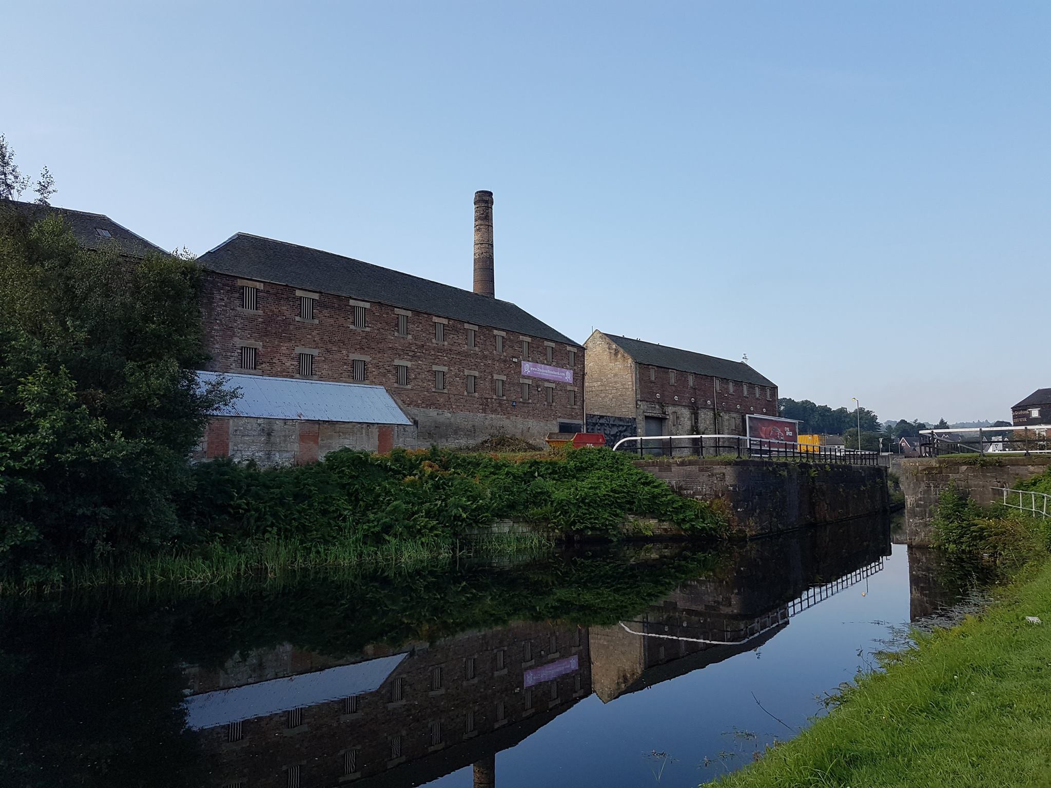
M 234 545 L 215 541 L 192 549 L 135 553 L 123 560 L 69 563 L 57 575 L 61 579 L 51 582 L 0 578 L 0 596 L 103 586 L 209 584 L 246 577 L 276 578 L 303 569 L 413 568 L 463 556 L 548 552 L 553 544 L 549 536 L 541 534 L 494 534 L 430 541 L 395 539 L 382 544 L 353 538 L 330 544 L 295 539 L 265 539 Z

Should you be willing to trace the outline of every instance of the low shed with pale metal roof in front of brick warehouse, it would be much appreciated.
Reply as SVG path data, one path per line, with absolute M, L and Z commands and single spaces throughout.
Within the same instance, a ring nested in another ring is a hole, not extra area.
M 202 380 L 218 377 L 201 372 Z M 416 448 L 416 427 L 382 386 L 227 374 L 240 396 L 205 429 L 193 460 L 231 457 L 303 464 L 336 449 Z

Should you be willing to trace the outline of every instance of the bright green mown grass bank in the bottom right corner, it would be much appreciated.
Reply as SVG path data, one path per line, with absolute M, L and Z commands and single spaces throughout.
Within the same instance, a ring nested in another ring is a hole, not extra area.
M 1022 571 L 982 616 L 918 635 L 884 665 L 828 717 L 715 784 L 1051 785 L 1051 561 Z

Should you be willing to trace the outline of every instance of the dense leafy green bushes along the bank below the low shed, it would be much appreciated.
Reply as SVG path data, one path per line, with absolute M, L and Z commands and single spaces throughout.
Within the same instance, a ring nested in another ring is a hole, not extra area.
M 677 495 L 607 449 L 519 459 L 433 448 L 390 455 L 341 450 L 298 468 L 218 459 L 197 465 L 192 478 L 183 514 L 199 539 L 427 541 L 499 519 L 616 536 L 627 515 L 698 534 L 724 525 L 707 503 Z

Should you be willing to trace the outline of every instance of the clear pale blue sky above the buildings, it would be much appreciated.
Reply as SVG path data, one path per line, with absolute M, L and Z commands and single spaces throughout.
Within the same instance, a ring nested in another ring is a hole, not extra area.
M 881 419 L 1051 386 L 1051 4 L 107 2 L 4 12 L 53 204 L 748 362 Z M 12 65 L 17 64 L 17 65 Z

